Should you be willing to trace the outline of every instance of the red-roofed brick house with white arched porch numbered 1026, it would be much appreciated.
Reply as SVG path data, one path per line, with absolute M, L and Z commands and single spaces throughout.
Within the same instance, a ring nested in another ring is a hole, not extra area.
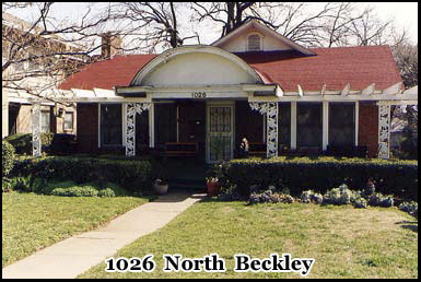
M 113 46 L 109 46 L 113 48 Z M 77 103 L 80 150 L 155 150 L 217 161 L 246 138 L 270 157 L 364 148 L 389 156 L 390 105 L 404 91 L 387 46 L 304 48 L 257 21 L 210 46 L 114 56 L 59 89 Z

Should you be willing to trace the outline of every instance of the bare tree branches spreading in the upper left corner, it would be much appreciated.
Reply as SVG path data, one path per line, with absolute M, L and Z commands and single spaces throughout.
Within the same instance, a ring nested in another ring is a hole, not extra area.
M 2 87 L 55 101 L 55 87 L 70 73 L 94 59 L 101 35 L 114 21 L 109 7 L 101 12 L 87 7 L 75 22 L 60 20 L 54 2 L 2 3 Z M 8 13 L 28 10 L 32 22 Z M 93 12 L 95 11 L 95 13 Z M 124 35 L 125 31 L 113 31 Z

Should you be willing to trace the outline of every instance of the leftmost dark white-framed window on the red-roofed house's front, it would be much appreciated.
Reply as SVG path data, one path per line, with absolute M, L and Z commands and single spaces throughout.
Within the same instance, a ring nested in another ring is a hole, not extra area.
M 121 104 L 101 104 L 101 145 L 121 145 Z

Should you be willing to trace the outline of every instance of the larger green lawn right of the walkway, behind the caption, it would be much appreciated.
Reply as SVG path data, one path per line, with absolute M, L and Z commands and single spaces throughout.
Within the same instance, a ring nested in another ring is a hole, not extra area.
M 105 263 L 79 278 L 301 278 L 299 273 L 236 273 L 234 255 L 267 258 L 289 252 L 315 258 L 307 278 L 417 278 L 418 223 L 396 208 L 203 201 L 114 257 L 154 256 L 153 272 L 107 273 Z M 217 252 L 226 272 L 162 271 L 164 254 L 201 258 Z

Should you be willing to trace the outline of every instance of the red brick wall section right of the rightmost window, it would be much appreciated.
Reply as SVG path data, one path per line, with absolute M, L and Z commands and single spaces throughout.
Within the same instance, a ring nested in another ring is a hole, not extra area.
M 359 145 L 366 145 L 369 157 L 376 157 L 378 146 L 378 106 L 360 102 Z

